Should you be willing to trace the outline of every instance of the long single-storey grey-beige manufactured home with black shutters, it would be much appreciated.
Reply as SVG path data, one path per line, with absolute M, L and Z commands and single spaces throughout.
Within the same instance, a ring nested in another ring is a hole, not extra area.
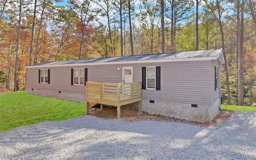
M 121 108 L 133 105 L 148 113 L 210 122 L 221 107 L 223 63 L 222 50 L 43 62 L 26 67 L 26 89 L 106 105 L 117 98 Z

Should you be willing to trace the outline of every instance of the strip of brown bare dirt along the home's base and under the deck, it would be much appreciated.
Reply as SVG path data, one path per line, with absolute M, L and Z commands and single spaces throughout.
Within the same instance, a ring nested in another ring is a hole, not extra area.
M 144 120 L 153 120 L 153 121 L 169 121 L 169 122 L 181 122 L 181 123 L 190 123 L 196 125 L 204 125 L 211 126 L 217 125 L 225 121 L 228 117 L 233 115 L 234 111 L 223 110 L 220 114 L 215 116 L 211 123 L 200 123 L 194 121 L 187 121 L 185 119 L 178 119 L 169 116 L 163 116 L 159 114 L 150 114 L 144 111 L 136 111 L 136 110 L 125 110 L 121 109 L 121 119 L 125 121 L 144 121 Z M 99 117 L 99 118 L 107 118 L 107 119 L 115 119 L 117 117 L 116 108 L 115 107 L 104 107 L 103 110 L 97 108 L 92 108 L 89 111 L 91 116 Z

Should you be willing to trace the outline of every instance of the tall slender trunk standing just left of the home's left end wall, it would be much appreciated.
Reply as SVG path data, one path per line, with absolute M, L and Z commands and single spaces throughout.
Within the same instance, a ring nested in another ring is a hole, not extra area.
M 19 52 L 20 52 L 21 9 L 22 9 L 22 0 L 20 0 L 20 6 L 19 6 L 19 28 L 18 28 L 17 52 L 16 52 L 16 60 L 15 60 L 15 71 L 14 71 L 14 92 L 16 92 L 18 89 L 18 62 L 19 62 Z

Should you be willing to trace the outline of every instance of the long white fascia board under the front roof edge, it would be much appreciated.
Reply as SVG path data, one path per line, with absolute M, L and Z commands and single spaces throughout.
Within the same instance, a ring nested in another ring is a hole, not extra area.
M 219 57 L 219 56 L 218 56 Z M 177 58 L 177 59 L 159 59 L 159 60 L 137 60 L 137 61 L 119 61 L 119 62 L 94 62 L 94 63 L 73 63 L 63 65 L 38 65 L 26 66 L 25 68 L 45 68 L 45 67 L 65 67 L 65 66 L 95 66 L 95 65 L 122 65 L 134 63 L 162 63 L 162 62 L 188 62 L 188 61 L 207 61 L 216 60 L 218 57 L 199 57 L 199 58 Z

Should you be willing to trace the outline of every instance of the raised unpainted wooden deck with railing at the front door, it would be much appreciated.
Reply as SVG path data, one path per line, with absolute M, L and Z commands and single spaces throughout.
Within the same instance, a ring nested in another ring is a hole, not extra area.
M 121 117 L 121 106 L 139 102 L 141 111 L 141 82 L 103 83 L 86 82 L 86 114 L 90 103 L 117 106 L 117 118 Z

